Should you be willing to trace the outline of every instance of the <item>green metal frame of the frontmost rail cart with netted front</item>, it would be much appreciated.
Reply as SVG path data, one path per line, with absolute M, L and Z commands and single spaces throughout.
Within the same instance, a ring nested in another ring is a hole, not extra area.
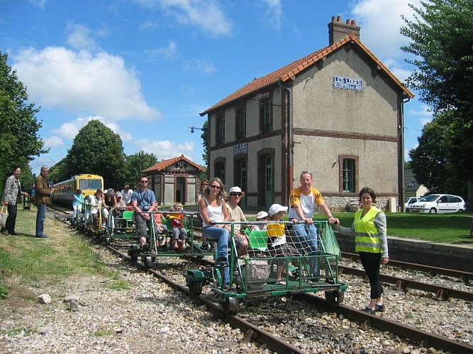
M 184 275 L 189 291 L 200 295 L 206 284 L 213 286 L 213 292 L 220 297 L 221 306 L 228 314 L 236 314 L 239 302 L 246 297 L 281 297 L 298 293 L 325 292 L 325 299 L 331 306 L 343 301 L 348 287 L 338 278 L 339 255 L 329 253 L 327 238 L 333 230 L 328 222 L 314 222 L 317 228 L 318 251 L 301 256 L 272 257 L 267 249 L 265 231 L 248 234 L 250 249 L 247 255 L 236 256 L 235 225 L 252 226 L 271 223 L 293 222 L 218 222 L 230 226 L 230 288 L 223 288 L 223 268 L 208 266 L 200 270 L 189 270 Z M 333 235 L 333 237 L 335 237 Z M 286 230 L 286 239 L 290 241 Z M 215 253 L 216 259 L 216 253 Z M 277 270 L 282 268 L 282 279 L 277 281 Z

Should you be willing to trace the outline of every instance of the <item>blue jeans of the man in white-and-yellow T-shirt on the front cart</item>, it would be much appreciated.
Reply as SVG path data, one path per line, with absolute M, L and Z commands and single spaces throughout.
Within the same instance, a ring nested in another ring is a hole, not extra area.
M 291 229 L 291 238 L 294 246 L 299 250 L 301 255 L 313 256 L 309 261 L 311 273 L 313 276 L 318 275 L 317 262 L 317 228 L 314 224 L 294 224 Z

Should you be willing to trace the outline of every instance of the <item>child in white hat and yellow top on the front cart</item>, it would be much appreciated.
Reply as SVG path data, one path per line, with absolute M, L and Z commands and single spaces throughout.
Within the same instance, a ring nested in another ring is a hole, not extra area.
M 272 222 L 282 221 L 284 212 L 287 211 L 287 207 L 283 207 L 279 204 L 273 204 L 269 207 L 268 214 L 269 220 Z M 267 225 L 267 234 L 268 234 L 268 251 L 272 257 L 291 257 L 291 256 L 300 256 L 299 251 L 293 244 L 289 244 L 286 241 L 286 228 L 284 224 L 272 224 Z M 294 266 L 299 266 L 299 261 L 291 261 Z M 278 262 L 277 261 L 277 271 L 276 271 L 276 283 L 280 285 L 286 285 L 286 282 L 282 280 L 282 271 L 284 268 L 287 268 L 286 261 Z

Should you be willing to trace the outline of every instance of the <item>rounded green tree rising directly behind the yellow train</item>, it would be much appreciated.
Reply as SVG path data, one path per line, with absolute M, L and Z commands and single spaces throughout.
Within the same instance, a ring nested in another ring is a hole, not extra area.
M 91 120 L 79 130 L 66 156 L 69 176 L 98 174 L 106 188 L 120 188 L 125 180 L 125 154 L 121 137 L 99 120 Z

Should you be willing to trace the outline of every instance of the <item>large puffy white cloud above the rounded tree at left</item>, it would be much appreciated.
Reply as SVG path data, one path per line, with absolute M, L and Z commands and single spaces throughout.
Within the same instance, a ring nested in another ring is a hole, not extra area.
M 92 113 L 110 120 L 154 120 L 161 113 L 146 103 L 140 81 L 122 57 L 65 47 L 27 48 L 13 56 L 13 69 L 33 101 L 45 108 Z

